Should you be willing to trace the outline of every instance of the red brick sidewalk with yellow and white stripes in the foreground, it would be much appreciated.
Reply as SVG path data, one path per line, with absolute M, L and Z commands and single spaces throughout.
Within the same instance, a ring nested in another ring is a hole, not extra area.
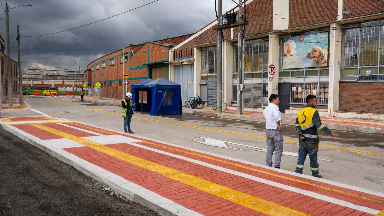
M 384 216 L 384 194 L 51 117 L 0 120 L 161 215 Z

